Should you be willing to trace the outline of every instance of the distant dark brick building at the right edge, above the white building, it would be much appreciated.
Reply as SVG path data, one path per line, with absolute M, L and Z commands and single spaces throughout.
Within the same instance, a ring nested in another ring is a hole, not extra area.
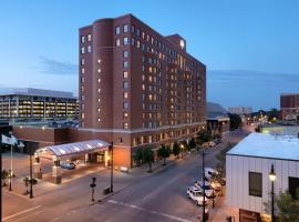
M 282 120 L 299 122 L 299 93 L 280 94 L 280 111 Z

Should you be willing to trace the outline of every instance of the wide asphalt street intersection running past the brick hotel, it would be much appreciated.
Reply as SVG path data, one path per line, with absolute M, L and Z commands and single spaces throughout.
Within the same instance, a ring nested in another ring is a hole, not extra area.
M 234 132 L 230 137 L 244 134 Z M 221 143 L 206 151 L 206 167 L 216 165 L 215 155 L 224 147 Z M 200 152 L 186 154 L 153 174 L 115 172 L 115 194 L 91 204 L 91 178 L 97 178 L 95 199 L 100 200 L 103 188 L 109 186 L 109 175 L 104 170 L 79 178 L 33 200 L 6 191 L 3 221 L 198 221 L 202 208 L 187 199 L 186 189 L 202 178 Z

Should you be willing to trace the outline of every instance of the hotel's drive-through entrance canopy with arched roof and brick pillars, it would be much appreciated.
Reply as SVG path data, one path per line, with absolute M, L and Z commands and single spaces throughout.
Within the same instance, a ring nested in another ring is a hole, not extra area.
M 47 178 L 59 184 L 63 175 L 83 172 L 90 167 L 107 167 L 109 145 L 110 143 L 102 140 L 89 140 L 40 148 L 34 153 L 34 176 Z M 48 164 L 49 168 L 42 168 L 42 164 Z M 48 172 L 42 169 L 48 169 Z

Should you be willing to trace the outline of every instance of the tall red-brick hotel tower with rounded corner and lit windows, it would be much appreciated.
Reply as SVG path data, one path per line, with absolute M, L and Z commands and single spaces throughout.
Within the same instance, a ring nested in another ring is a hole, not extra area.
M 206 67 L 178 34 L 163 37 L 126 14 L 81 28 L 79 48 L 82 130 L 135 148 L 205 124 Z

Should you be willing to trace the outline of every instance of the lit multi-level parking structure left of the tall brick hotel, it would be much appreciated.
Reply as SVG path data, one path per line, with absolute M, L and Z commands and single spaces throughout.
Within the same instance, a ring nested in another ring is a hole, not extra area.
M 63 120 L 78 118 L 72 92 L 42 89 L 0 89 L 1 120 Z

